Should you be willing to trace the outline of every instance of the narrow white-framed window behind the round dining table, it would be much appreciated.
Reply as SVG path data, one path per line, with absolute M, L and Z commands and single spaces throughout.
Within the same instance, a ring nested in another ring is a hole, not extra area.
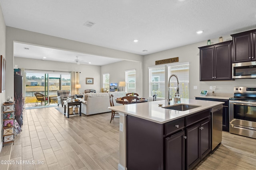
M 125 91 L 127 93 L 136 92 L 136 70 L 126 70 L 125 71 Z

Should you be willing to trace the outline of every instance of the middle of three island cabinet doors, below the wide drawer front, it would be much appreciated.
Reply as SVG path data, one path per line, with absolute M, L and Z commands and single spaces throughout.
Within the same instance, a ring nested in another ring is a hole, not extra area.
M 200 162 L 200 123 L 186 129 L 186 169 Z

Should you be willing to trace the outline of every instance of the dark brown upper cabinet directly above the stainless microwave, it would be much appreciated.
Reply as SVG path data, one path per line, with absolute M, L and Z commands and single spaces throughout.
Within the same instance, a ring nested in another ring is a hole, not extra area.
M 231 35 L 233 37 L 232 63 L 256 61 L 256 29 Z

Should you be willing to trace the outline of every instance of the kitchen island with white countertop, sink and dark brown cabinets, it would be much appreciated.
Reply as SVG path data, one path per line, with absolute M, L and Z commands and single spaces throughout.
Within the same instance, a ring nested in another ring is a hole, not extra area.
M 120 113 L 118 169 L 193 168 L 211 150 L 210 108 L 223 103 L 181 99 L 198 106 L 186 111 L 162 108 L 179 105 L 173 100 L 109 107 Z

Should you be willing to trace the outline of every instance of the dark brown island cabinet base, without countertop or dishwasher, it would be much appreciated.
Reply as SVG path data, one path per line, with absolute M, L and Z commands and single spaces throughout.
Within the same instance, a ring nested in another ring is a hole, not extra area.
M 127 115 L 127 169 L 191 169 L 210 152 L 210 137 L 209 109 L 164 124 Z

